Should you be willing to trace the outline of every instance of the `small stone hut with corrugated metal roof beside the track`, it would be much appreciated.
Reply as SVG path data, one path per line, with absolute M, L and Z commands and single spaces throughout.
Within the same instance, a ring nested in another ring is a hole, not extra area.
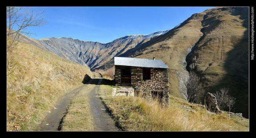
M 160 59 L 114 57 L 115 84 L 143 92 L 146 97 L 160 97 L 169 105 L 168 66 Z

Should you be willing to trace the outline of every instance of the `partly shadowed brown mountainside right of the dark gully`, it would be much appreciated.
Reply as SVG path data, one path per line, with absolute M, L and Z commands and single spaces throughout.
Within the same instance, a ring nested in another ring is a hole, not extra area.
M 229 88 L 236 97 L 234 108 L 249 116 L 248 8 L 224 7 L 205 11 L 203 36 L 188 58 L 196 64 L 206 92 Z M 193 58 L 196 56 L 196 60 Z

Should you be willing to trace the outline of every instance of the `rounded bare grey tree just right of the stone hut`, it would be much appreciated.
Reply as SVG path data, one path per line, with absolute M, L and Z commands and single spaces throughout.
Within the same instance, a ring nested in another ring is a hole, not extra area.
M 194 103 L 202 98 L 204 89 L 200 83 L 200 77 L 195 72 L 190 71 L 189 76 L 183 76 L 181 81 L 180 91 L 186 96 L 188 102 Z

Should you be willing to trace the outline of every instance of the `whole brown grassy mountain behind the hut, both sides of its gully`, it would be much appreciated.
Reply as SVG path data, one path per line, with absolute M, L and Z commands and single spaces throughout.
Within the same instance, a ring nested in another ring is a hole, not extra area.
M 229 88 L 230 95 L 236 97 L 235 111 L 248 117 L 248 8 L 218 7 L 195 13 L 144 47 L 133 57 L 155 56 L 164 61 L 170 69 L 171 95 L 183 98 L 180 78 L 194 70 L 205 93 Z

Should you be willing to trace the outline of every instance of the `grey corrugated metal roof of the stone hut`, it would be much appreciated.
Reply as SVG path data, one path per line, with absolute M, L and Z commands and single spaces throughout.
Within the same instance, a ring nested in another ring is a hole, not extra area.
M 168 66 L 160 59 L 144 59 L 144 58 L 126 58 L 114 57 L 115 65 L 132 66 L 132 67 L 147 67 L 147 68 L 165 68 Z

